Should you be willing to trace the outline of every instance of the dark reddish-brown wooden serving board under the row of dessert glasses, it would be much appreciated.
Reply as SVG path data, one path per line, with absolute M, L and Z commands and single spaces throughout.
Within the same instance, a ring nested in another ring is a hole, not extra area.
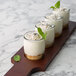
M 14 66 L 5 74 L 5 76 L 30 76 L 37 71 L 45 71 L 50 62 L 61 50 L 66 40 L 70 37 L 73 31 L 76 29 L 76 22 L 69 22 L 69 27 L 63 30 L 62 35 L 55 39 L 54 45 L 46 49 L 44 57 L 41 60 L 31 61 L 24 56 L 23 47 L 16 53 L 21 56 L 20 62 L 14 62 L 13 57 L 11 62 Z M 15 54 L 15 55 L 16 55 Z

